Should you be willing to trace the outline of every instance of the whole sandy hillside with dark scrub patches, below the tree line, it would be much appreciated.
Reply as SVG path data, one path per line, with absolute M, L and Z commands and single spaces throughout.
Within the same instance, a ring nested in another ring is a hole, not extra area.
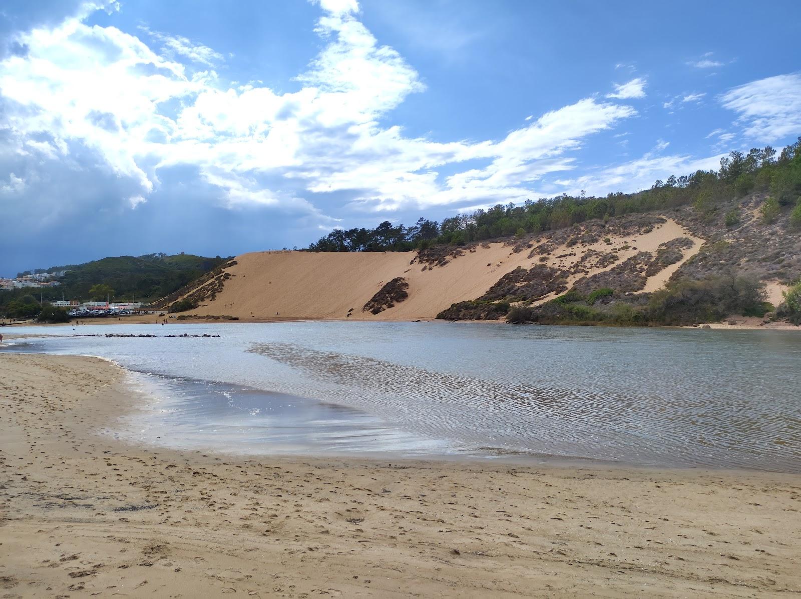
M 747 277 L 764 286 L 762 299 L 775 307 L 801 275 L 801 235 L 787 210 L 764 223 L 764 202 L 750 195 L 721 204 L 711 217 L 686 206 L 421 251 L 248 253 L 159 305 L 189 298 L 196 308 L 187 315 L 240 320 L 495 320 L 510 306 L 547 308 L 550 315 L 554 305 L 575 303 L 570 318 L 529 320 L 584 320 L 574 316 L 586 316 L 591 306 L 645 306 L 669 284 Z M 727 227 L 724 215 L 733 210 L 739 221 Z

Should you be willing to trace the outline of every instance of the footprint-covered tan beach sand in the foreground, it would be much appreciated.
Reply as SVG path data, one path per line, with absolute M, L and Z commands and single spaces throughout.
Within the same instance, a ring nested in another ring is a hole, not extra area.
M 260 457 L 103 434 L 105 360 L 0 352 L 2 597 L 771 597 L 801 479 Z

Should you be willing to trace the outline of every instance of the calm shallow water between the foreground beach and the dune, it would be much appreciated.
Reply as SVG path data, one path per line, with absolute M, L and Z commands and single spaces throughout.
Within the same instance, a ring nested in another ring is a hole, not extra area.
M 116 433 L 140 441 L 801 472 L 798 332 L 340 322 L 74 331 L 92 332 L 221 336 L 12 341 L 14 351 L 105 356 L 137 373 L 151 400 Z

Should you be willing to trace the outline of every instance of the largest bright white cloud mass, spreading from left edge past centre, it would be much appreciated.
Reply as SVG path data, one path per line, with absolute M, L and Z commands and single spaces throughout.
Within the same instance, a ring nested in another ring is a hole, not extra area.
M 307 215 L 316 227 L 336 223 L 315 205 L 316 194 L 340 192 L 367 211 L 525 199 L 543 176 L 573 169 L 570 153 L 588 136 L 637 114 L 583 98 L 529 115 L 502 139 L 408 137 L 386 122 L 409 94 L 425 90 L 417 71 L 356 19 L 356 2 L 320 7 L 324 47 L 296 78 L 300 89 L 287 93 L 223 82 L 205 68 L 220 54 L 187 38 L 148 30 L 163 45 L 154 50 L 81 18 L 34 29 L 24 34 L 26 56 L 0 60 L 7 155 L 84 180 L 97 169 L 119 181 L 116 194 L 97 201 L 128 210 L 152 205 L 179 179 L 175 185 L 202 188 L 223 207 Z M 644 86 L 634 79 L 614 97 L 642 97 Z M 476 163 L 460 167 L 468 160 Z

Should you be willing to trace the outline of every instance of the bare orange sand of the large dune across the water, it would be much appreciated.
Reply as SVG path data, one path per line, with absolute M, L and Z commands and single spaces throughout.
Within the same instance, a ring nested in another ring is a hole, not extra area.
M 694 238 L 673 220 L 658 224 L 643 235 L 610 235 L 579 247 L 557 245 L 545 257 L 530 255 L 529 248 L 513 251 L 505 243 L 485 243 L 465 249 L 443 266 L 421 264 L 417 252 L 305 252 L 264 251 L 240 255 L 227 268 L 231 278 L 215 299 L 204 299 L 191 314 L 231 315 L 242 320 L 269 318 L 380 318 L 430 319 L 451 304 L 476 299 L 517 267 L 546 264 L 568 271 L 572 284 L 586 274 L 573 267 L 586 251 L 618 256 L 618 262 L 589 269 L 589 275 L 609 270 L 638 251 L 656 252 L 661 243 L 688 237 L 693 247 L 683 251 L 681 262 L 650 277 L 644 291 L 662 287 L 681 263 L 698 251 L 702 239 Z M 537 239 L 546 243 L 547 236 Z M 537 242 L 533 243 L 536 247 Z M 530 255 L 530 257 L 529 257 Z M 384 283 L 403 277 L 409 297 L 377 315 L 364 312 L 364 304 Z M 542 298 L 545 301 L 550 297 Z M 351 312 L 351 316 L 348 316 Z

